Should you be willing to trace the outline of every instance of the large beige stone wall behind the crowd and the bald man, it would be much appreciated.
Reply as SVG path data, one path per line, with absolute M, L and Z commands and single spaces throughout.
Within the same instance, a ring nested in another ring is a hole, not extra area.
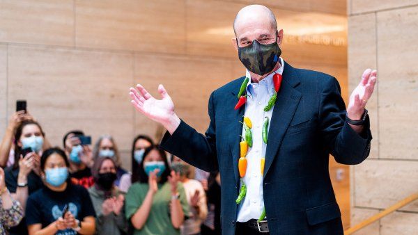
M 0 138 L 15 100 L 27 99 L 53 145 L 71 129 L 93 141 L 110 133 L 130 168 L 134 135 L 157 131 L 130 106 L 135 83 L 153 95 L 164 83 L 180 117 L 205 131 L 210 92 L 245 74 L 231 38 L 235 14 L 249 3 L 277 15 L 286 61 L 336 76 L 347 96 L 346 1 L 3 0 Z M 330 172 L 347 226 L 348 166 L 331 161 Z

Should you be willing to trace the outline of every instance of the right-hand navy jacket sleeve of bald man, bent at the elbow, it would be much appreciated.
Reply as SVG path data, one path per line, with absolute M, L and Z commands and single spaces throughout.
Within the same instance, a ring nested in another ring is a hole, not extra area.
M 334 77 L 325 79 L 320 96 L 319 122 L 323 143 L 336 162 L 359 164 L 369 156 L 371 131 L 369 117 L 362 133 L 356 133 L 346 122 L 346 106 Z

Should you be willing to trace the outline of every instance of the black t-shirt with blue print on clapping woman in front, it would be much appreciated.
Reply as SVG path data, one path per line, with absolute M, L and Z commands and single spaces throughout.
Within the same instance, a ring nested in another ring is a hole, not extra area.
M 26 202 L 26 224 L 42 224 L 42 228 L 62 216 L 64 206 L 77 220 L 87 216 L 95 216 L 93 204 L 86 188 L 68 184 L 63 192 L 52 191 L 46 186 L 33 193 Z M 72 229 L 60 230 L 59 235 L 75 235 Z

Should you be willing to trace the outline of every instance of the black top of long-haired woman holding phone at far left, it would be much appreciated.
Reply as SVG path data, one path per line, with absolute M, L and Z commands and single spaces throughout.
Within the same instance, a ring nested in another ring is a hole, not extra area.
M 16 193 L 17 189 L 17 176 L 19 175 L 19 168 L 6 168 L 4 171 L 4 180 L 6 181 L 6 186 L 10 193 Z M 34 172 L 29 173 L 28 175 L 28 190 L 29 195 L 38 191 L 42 188 L 42 179 Z M 25 218 L 20 221 L 19 225 L 12 227 L 8 230 L 10 235 L 25 235 L 28 234 L 28 229 L 26 227 Z

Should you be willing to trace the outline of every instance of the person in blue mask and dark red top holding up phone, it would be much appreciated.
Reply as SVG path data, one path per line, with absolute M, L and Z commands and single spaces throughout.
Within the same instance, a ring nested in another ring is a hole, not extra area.
M 94 184 L 91 175 L 93 152 L 90 146 L 81 145 L 79 136 L 84 136 L 84 132 L 69 131 L 63 138 L 63 146 L 70 162 L 69 172 L 72 183 L 90 188 Z

